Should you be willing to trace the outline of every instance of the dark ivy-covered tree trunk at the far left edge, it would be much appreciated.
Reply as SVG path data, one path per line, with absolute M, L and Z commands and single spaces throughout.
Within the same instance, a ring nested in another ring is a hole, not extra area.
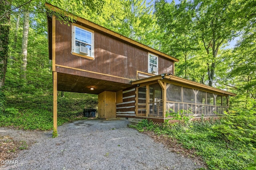
M 11 9 L 10 1 L 0 1 L 0 15 Z M 7 70 L 8 43 L 10 31 L 10 14 L 0 21 L 0 114 L 4 112 L 4 82 Z

